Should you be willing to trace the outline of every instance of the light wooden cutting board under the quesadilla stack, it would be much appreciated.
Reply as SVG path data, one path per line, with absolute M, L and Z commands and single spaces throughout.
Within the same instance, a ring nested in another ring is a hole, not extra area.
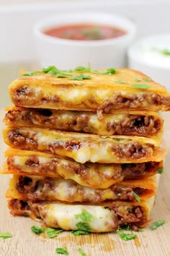
M 4 162 L 4 145 L 2 139 L 2 118 L 4 111 L 0 110 L 0 164 Z M 63 232 L 55 239 L 45 235 L 35 235 L 30 230 L 32 225 L 41 226 L 30 218 L 13 217 L 6 207 L 4 194 L 8 187 L 9 175 L 0 177 L 0 232 L 10 232 L 11 239 L 0 239 L 0 256 L 54 256 L 55 248 L 66 247 L 68 255 L 80 255 L 81 248 L 86 255 L 126 255 L 126 256 L 162 256 L 170 255 L 170 113 L 164 114 L 164 137 L 169 147 L 166 156 L 164 174 L 161 175 L 156 202 L 153 207 L 152 221 L 163 219 L 164 226 L 151 230 L 151 223 L 143 232 L 133 232 L 138 238 L 128 242 L 122 241 L 114 232 L 109 234 L 90 234 L 88 236 L 73 236 L 70 232 Z M 130 231 L 128 231 L 130 233 Z

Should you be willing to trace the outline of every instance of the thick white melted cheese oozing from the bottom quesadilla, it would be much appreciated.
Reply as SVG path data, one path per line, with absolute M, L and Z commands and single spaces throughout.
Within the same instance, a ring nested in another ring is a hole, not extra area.
M 102 206 L 49 203 L 43 205 L 40 209 L 40 215 L 45 216 L 42 218 L 47 226 L 53 226 L 54 223 L 58 223 L 61 229 L 76 230 L 78 229 L 76 224 L 83 221 L 75 216 L 81 214 L 83 209 L 94 217 L 92 221 L 87 222 L 92 232 L 115 230 L 115 217 L 113 213 Z

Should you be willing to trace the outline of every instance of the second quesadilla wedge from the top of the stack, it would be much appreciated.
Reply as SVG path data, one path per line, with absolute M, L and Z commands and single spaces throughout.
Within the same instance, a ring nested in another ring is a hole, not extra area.
M 63 111 L 42 108 L 6 108 L 4 122 L 12 127 L 42 127 L 96 135 L 161 137 L 164 121 L 153 111 L 114 111 L 97 114 L 87 111 Z

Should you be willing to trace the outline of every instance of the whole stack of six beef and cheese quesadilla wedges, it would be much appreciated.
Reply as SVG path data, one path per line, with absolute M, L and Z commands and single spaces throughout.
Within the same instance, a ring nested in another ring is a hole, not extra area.
M 137 231 L 163 172 L 170 93 L 131 69 L 55 67 L 9 85 L 4 174 L 14 216 L 86 232 Z

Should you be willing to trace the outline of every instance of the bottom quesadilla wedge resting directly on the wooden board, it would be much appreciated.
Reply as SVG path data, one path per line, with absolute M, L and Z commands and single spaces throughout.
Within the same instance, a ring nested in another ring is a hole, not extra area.
M 12 199 L 9 209 L 14 216 L 30 216 L 47 226 L 63 230 L 84 230 L 89 232 L 115 231 L 123 225 L 133 229 L 143 228 L 150 221 L 154 197 L 140 202 L 120 200 L 100 205 L 81 205 L 61 202 L 32 202 Z

